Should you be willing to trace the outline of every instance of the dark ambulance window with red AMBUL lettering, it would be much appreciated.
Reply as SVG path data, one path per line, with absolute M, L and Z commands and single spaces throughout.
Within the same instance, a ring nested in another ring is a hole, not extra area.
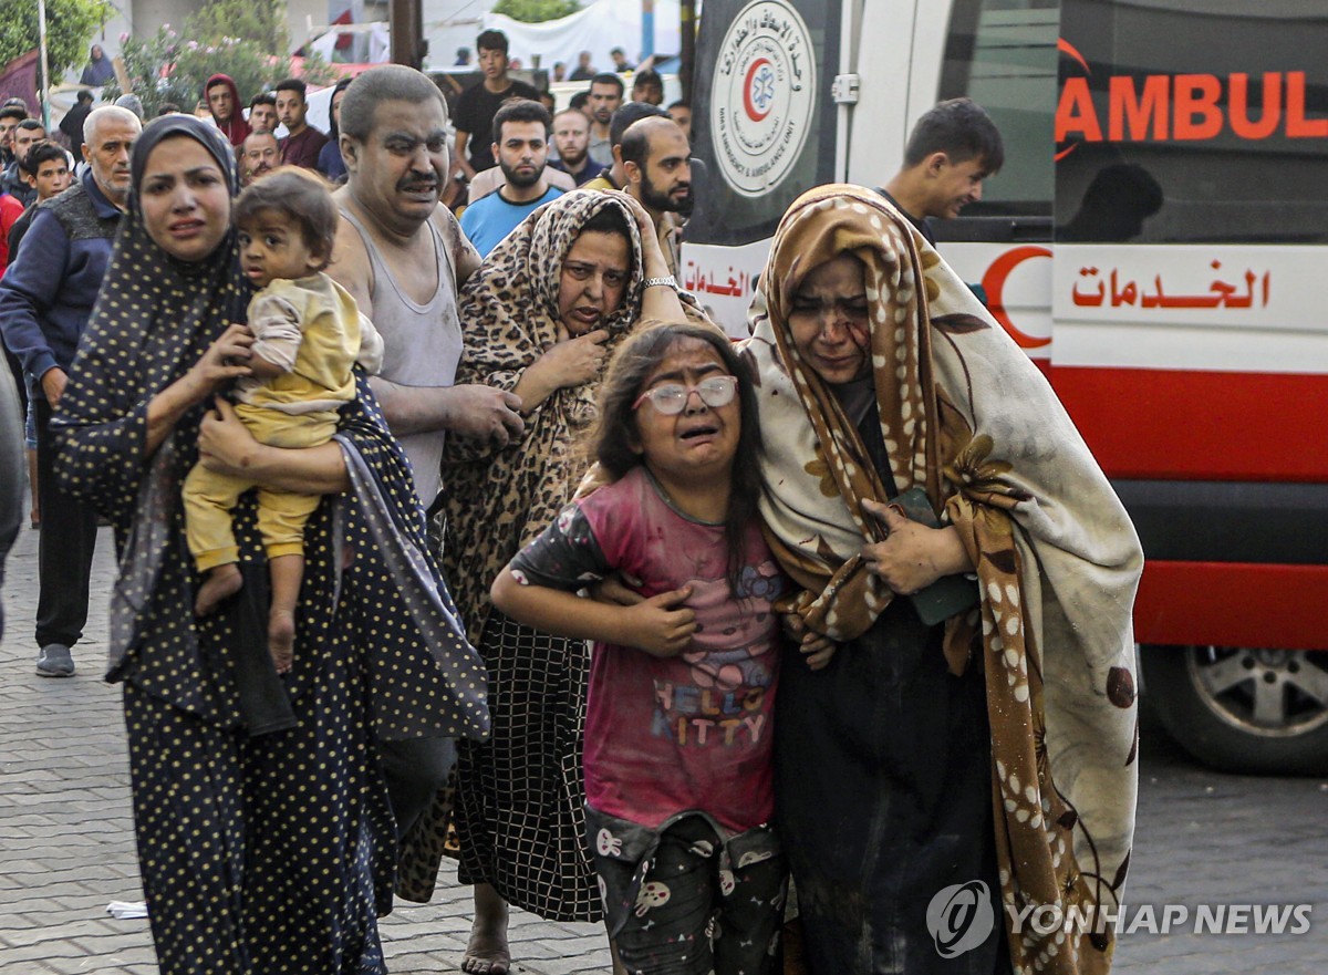
M 1065 0 L 1056 238 L 1328 242 L 1323 0 Z

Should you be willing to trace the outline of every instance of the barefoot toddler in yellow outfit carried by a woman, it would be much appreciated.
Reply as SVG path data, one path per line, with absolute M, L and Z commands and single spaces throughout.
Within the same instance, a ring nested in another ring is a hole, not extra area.
M 323 274 L 337 213 L 317 177 L 287 167 L 235 201 L 240 264 L 262 288 L 248 306 L 252 376 L 236 381 L 235 413 L 260 444 L 307 448 L 336 433 L 337 410 L 355 399 L 352 367 L 382 364 L 382 339 L 355 299 Z M 207 615 L 240 588 L 231 510 L 252 480 L 202 464 L 185 478 L 189 550 L 205 574 L 194 611 Z M 272 578 L 268 646 L 280 673 L 291 668 L 295 604 L 304 576 L 304 523 L 321 497 L 258 486 L 258 527 Z

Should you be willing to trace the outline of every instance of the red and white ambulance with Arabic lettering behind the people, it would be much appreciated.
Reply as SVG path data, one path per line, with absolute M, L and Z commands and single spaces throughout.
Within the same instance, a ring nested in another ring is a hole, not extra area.
M 1328 772 L 1328 4 L 705 0 L 681 284 L 732 335 L 788 205 L 967 96 L 1005 165 L 934 222 L 1143 541 L 1146 700 Z

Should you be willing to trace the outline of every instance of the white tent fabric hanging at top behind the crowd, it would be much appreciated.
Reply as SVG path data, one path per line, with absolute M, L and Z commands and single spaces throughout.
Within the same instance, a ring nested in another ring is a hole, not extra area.
M 599 70 L 612 70 L 608 52 L 614 48 L 625 50 L 632 64 L 640 60 L 641 0 L 592 0 L 570 17 L 543 24 L 522 24 L 493 13 L 491 7 L 493 0 L 425 0 L 429 66 L 450 68 L 457 48 L 474 52 L 479 31 L 489 28 L 507 35 L 510 54 L 519 57 L 523 68 L 533 68 L 539 54 L 540 68 L 552 68 L 554 61 L 562 61 L 571 73 L 576 56 L 588 50 L 591 64 Z M 680 49 L 679 1 L 655 0 L 655 52 L 676 54 Z

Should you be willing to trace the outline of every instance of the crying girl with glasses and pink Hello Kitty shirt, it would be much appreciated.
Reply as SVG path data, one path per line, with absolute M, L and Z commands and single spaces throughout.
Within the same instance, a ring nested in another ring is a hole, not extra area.
M 790 586 L 761 534 L 746 364 L 714 328 L 637 332 L 604 379 L 591 453 L 608 484 L 507 565 L 494 606 L 595 642 L 587 822 L 623 963 L 769 972 L 786 883 L 770 825 L 773 604 Z M 578 596 L 612 574 L 636 582 L 633 604 Z

